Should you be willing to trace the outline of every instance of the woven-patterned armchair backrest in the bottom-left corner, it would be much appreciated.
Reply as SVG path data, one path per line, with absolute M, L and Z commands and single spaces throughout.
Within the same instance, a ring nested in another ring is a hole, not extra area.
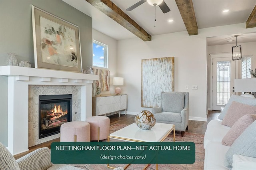
M 0 143 L 0 170 L 20 170 L 9 150 Z

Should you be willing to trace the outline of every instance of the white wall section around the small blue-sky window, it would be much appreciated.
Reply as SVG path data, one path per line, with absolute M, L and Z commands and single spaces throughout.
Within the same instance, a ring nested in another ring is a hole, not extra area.
M 108 69 L 110 71 L 110 91 L 102 91 L 101 95 L 114 94 L 114 86 L 112 85 L 113 77 L 117 75 L 117 41 L 113 38 L 92 29 L 92 39 L 108 45 Z M 93 67 L 103 69 L 101 67 Z

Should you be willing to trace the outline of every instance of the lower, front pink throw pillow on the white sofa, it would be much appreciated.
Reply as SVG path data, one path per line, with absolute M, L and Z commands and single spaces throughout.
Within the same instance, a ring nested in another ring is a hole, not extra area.
M 228 130 L 221 143 L 226 146 L 231 146 L 236 138 L 238 138 L 254 121 L 256 121 L 256 115 L 244 115 L 236 121 L 230 130 Z

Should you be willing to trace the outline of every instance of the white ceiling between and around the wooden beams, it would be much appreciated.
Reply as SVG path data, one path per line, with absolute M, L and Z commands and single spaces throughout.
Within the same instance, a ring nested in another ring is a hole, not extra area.
M 106 34 L 116 40 L 136 37 L 134 34 L 89 4 L 86 0 L 63 1 L 92 17 L 92 27 L 103 34 Z M 160 8 L 156 6 L 156 27 L 154 27 L 154 6 L 150 6 L 145 2 L 132 11 L 126 11 L 127 8 L 139 0 L 111 1 L 152 36 L 186 31 L 186 27 L 182 17 L 180 16 L 175 0 L 164 0 L 171 10 L 166 14 L 163 14 Z M 245 23 L 256 5 L 256 0 L 193 0 L 193 5 L 198 29 L 201 29 Z M 225 8 L 229 8 L 230 12 L 222 13 L 222 10 Z M 169 19 L 174 21 L 168 22 Z M 228 44 L 226 41 L 232 38 L 235 40 L 234 35 L 208 38 L 207 40 L 208 45 L 217 45 Z M 238 37 L 238 42 L 241 43 L 246 41 L 256 42 L 256 34 L 244 34 Z

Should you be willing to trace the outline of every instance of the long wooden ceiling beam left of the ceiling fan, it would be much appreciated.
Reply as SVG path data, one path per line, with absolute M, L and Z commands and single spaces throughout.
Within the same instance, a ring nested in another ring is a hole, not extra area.
M 92 6 L 112 18 L 143 41 L 151 41 L 151 35 L 110 0 L 86 0 Z

